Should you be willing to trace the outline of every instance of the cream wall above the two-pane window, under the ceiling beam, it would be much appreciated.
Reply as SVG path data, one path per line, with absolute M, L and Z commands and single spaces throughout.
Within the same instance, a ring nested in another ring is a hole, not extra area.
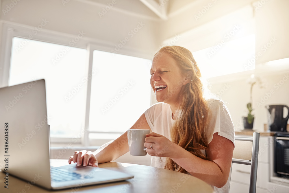
M 41 24 L 42 19 L 46 19 L 49 22 L 43 30 L 75 36 L 81 31 L 85 33 L 84 38 L 107 44 L 111 49 L 127 37 L 129 41 L 124 47 L 151 56 L 161 42 L 157 38 L 158 17 L 139 1 L 115 2 L 114 6 L 100 17 L 99 12 L 102 13 L 105 5 L 112 3 L 112 0 L 101 1 L 104 5 L 88 0 L 70 0 L 64 5 L 59 0 L 19 1 L 5 15 L 1 13 L 1 20 L 27 25 L 32 30 Z M 2 8 L 6 8 L 10 3 L 10 0 L 3 0 Z M 122 7 L 127 5 L 133 11 L 124 12 Z M 140 28 L 137 29 L 138 32 L 129 34 L 136 27 Z

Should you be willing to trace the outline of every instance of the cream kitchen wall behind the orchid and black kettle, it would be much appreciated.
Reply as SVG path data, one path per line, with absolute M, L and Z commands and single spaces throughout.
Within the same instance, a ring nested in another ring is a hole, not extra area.
M 289 65 L 289 64 L 288 64 Z M 266 105 L 285 104 L 289 106 L 289 71 L 277 72 L 271 75 L 261 75 L 266 87 L 253 86 L 252 91 L 252 114 L 255 116 L 253 130 L 264 131 L 264 124 L 267 124 Z M 247 83 L 250 74 L 236 81 L 224 81 L 223 83 L 212 84 L 212 93 L 220 94 L 225 101 L 235 130 L 242 130 L 242 116 L 247 116 L 247 103 L 250 102 L 250 87 Z M 277 84 L 279 83 L 279 85 Z M 287 115 L 287 114 L 286 114 Z M 285 116 L 286 116 L 285 115 Z

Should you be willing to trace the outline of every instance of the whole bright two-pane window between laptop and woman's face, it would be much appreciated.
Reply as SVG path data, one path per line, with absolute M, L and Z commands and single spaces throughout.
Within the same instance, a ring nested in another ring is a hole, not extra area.
M 114 139 L 150 106 L 150 60 L 94 50 L 88 74 L 87 54 L 88 49 L 12 39 L 9 86 L 45 79 L 51 137 L 83 136 L 88 93 L 90 138 Z

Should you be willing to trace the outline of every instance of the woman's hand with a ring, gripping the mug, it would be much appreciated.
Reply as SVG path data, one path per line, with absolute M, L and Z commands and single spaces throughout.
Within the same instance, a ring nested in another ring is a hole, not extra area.
M 177 146 L 168 138 L 154 132 L 147 134 L 144 141 L 144 147 L 147 148 L 147 153 L 151 156 L 172 157 L 174 155 L 173 150 Z

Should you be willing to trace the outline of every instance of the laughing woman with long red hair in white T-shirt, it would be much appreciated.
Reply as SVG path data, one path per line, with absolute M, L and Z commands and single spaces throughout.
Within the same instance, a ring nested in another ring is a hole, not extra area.
M 141 129 L 151 130 L 144 143 L 153 156 L 151 166 L 191 174 L 216 192 L 229 192 L 234 125 L 221 101 L 205 100 L 200 78 L 188 49 L 160 49 L 153 58 L 150 80 L 160 103 L 145 111 L 131 129 L 141 125 Z M 97 167 L 113 161 L 129 151 L 127 143 L 118 146 L 122 140 L 127 141 L 127 132 L 95 152 L 76 151 L 68 162 Z

